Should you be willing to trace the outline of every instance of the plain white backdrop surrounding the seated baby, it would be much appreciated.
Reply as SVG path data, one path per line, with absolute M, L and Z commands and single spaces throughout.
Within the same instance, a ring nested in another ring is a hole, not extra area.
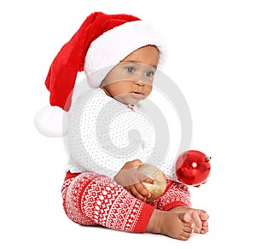
M 168 5 L 167 5 L 168 3 Z M 1 248 L 216 248 L 255 246 L 256 7 L 254 1 L 2 1 Z M 134 14 L 166 36 L 165 72 L 193 117 L 192 148 L 212 156 L 205 186 L 191 188 L 210 231 L 189 241 L 72 223 L 61 207 L 67 155 L 34 114 L 49 103 L 44 79 L 61 46 L 95 10 Z

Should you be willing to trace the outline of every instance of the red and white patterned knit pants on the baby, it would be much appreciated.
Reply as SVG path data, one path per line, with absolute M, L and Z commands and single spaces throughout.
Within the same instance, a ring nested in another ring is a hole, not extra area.
M 73 222 L 137 233 L 146 230 L 155 208 L 190 206 L 189 189 L 183 184 L 168 181 L 158 200 L 144 202 L 113 179 L 93 172 L 67 172 L 61 192 L 64 210 Z

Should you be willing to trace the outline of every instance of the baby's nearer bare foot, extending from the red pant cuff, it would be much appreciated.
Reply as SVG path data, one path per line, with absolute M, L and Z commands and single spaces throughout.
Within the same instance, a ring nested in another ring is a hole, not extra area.
M 189 211 L 154 210 L 147 232 L 167 235 L 177 240 L 189 240 L 193 232 L 192 217 Z

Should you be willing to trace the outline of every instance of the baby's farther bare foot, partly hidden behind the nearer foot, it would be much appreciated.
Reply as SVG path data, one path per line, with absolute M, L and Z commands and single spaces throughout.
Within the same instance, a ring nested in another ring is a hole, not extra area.
M 203 211 L 201 209 L 189 208 L 185 206 L 175 206 L 170 211 L 189 212 L 193 220 L 193 228 L 195 233 L 206 234 L 208 232 L 209 227 L 207 220 L 209 216 L 207 215 L 206 211 Z

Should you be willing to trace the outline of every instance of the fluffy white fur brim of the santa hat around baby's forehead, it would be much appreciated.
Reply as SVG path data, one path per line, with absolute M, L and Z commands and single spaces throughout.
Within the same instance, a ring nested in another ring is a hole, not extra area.
M 133 51 L 154 45 L 160 51 L 159 68 L 166 61 L 164 38 L 144 20 L 126 22 L 104 32 L 91 44 L 85 56 L 84 72 L 90 87 L 99 87 L 111 68 Z

